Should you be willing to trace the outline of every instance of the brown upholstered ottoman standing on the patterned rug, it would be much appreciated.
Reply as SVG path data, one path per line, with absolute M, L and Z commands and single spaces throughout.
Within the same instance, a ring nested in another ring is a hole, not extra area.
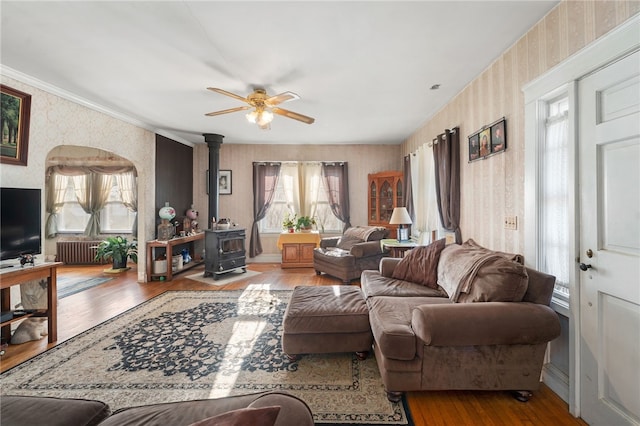
M 359 287 L 299 286 L 284 314 L 282 349 L 291 359 L 310 353 L 355 352 L 373 344 L 369 310 Z

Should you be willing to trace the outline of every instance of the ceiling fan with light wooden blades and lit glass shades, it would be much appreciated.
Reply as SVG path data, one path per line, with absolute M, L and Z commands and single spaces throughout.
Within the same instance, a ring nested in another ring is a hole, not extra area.
M 273 114 L 282 115 L 284 117 L 293 118 L 294 120 L 302 121 L 303 123 L 312 124 L 315 118 L 307 117 L 306 115 L 298 114 L 297 112 L 289 111 L 284 108 L 278 108 L 276 105 L 280 105 L 283 102 L 293 101 L 300 99 L 300 96 L 293 92 L 283 92 L 279 95 L 268 96 L 267 91 L 264 89 L 256 88 L 246 98 L 236 95 L 235 93 L 227 92 L 226 90 L 218 89 L 216 87 L 207 87 L 212 92 L 220 93 L 221 95 L 229 96 L 242 102 L 246 102 L 248 105 L 240 107 L 224 109 L 221 111 L 214 111 L 205 115 L 212 117 L 214 115 L 228 114 L 230 112 L 244 111 L 253 109 L 253 111 L 247 113 L 247 120 L 251 123 L 257 124 L 261 129 L 268 130 L 271 128 L 270 123 L 273 120 Z

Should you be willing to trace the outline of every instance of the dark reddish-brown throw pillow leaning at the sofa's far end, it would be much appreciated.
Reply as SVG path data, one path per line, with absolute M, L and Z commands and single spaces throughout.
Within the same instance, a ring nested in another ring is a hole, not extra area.
M 438 262 L 444 246 L 443 238 L 408 251 L 393 270 L 392 278 L 438 288 Z

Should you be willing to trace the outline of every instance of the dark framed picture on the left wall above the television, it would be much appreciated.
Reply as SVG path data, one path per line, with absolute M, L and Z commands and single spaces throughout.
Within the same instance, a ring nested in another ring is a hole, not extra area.
M 0 85 L 2 102 L 2 143 L 0 163 L 27 165 L 29 152 L 29 118 L 31 116 L 31 95 Z

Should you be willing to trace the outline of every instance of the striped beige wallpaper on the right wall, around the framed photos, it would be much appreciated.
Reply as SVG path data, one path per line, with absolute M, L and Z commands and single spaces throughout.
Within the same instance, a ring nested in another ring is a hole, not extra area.
M 640 1 L 563 1 L 402 145 L 413 152 L 445 128 L 460 127 L 462 238 L 524 251 L 524 96 L 522 87 L 640 12 Z M 468 163 L 467 137 L 501 117 L 507 151 Z M 505 230 L 504 216 L 518 217 Z

